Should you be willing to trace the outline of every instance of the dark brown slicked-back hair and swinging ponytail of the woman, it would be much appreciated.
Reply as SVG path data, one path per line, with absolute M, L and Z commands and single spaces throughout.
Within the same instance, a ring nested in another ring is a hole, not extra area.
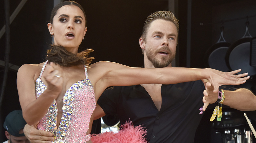
M 84 9 L 81 7 L 81 5 L 74 1 L 64 1 L 56 5 L 52 10 L 50 23 L 53 24 L 53 17 L 56 15 L 58 9 L 66 5 L 75 5 L 83 11 L 86 27 L 86 16 Z M 64 47 L 60 45 L 51 45 L 50 49 L 47 50 L 46 59 L 49 60 L 49 63 L 54 62 L 64 67 L 71 67 L 80 64 L 90 64 L 94 59 L 94 57 L 89 57 L 90 52 L 93 52 L 93 50 L 87 49 L 80 53 L 73 54 L 71 52 L 68 52 Z

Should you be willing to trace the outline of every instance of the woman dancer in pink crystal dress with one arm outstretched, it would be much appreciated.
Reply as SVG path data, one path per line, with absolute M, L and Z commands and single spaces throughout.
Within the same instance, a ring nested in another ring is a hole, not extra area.
M 241 78 L 247 74 L 233 75 L 241 70 L 131 68 L 106 61 L 89 65 L 92 50 L 77 53 L 87 31 L 86 16 L 72 1 L 53 8 L 48 29 L 54 38 L 48 61 L 21 66 L 17 87 L 24 119 L 30 125 L 39 122 L 38 129 L 51 131 L 55 142 L 91 143 L 93 111 L 101 93 L 110 86 L 208 79 L 217 91 L 220 85 L 238 85 L 249 78 Z

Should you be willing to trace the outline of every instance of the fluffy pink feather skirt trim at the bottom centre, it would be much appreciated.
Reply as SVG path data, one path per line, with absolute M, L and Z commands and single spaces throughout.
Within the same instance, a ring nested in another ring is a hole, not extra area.
M 93 134 L 93 143 L 148 143 L 144 136 L 147 134 L 141 126 L 133 126 L 132 121 L 121 125 L 118 133 L 105 132 L 102 134 Z

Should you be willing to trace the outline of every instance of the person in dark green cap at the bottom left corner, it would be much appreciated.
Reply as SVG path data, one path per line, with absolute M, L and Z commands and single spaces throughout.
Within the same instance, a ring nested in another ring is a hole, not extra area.
M 7 141 L 3 143 L 29 143 L 29 140 L 23 133 L 26 121 L 22 117 L 21 110 L 14 110 L 9 113 L 4 122 L 5 136 Z

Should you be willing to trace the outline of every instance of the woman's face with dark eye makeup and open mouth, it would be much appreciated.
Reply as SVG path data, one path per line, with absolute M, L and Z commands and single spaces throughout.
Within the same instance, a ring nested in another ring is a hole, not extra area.
M 48 29 L 54 37 L 54 45 L 63 46 L 69 52 L 77 53 L 87 31 L 84 13 L 77 6 L 63 6 L 57 10 L 53 23 L 48 23 Z

